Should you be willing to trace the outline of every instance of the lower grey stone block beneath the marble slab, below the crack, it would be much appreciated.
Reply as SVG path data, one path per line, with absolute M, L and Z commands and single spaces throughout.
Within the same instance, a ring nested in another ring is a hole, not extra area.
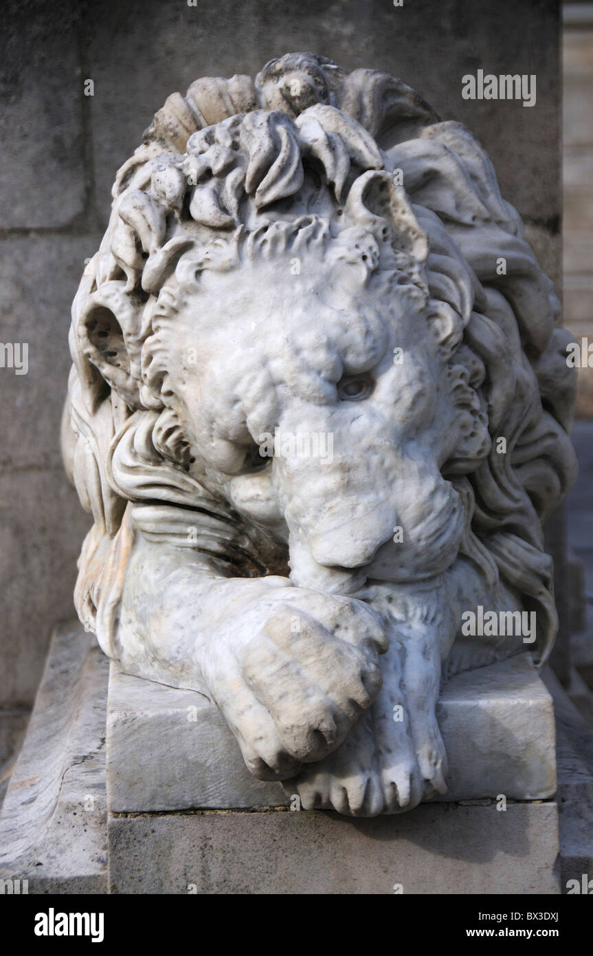
M 111 893 L 560 892 L 555 803 L 109 815 L 108 829 Z

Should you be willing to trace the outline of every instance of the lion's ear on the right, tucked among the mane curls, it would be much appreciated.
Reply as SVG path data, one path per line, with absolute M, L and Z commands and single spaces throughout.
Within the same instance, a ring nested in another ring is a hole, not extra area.
M 408 202 L 406 191 L 384 171 L 370 170 L 354 180 L 346 211 L 364 223 L 377 239 L 389 238 L 395 250 L 406 252 L 417 262 L 426 262 L 429 241 Z M 366 220 L 366 222 L 365 222 Z

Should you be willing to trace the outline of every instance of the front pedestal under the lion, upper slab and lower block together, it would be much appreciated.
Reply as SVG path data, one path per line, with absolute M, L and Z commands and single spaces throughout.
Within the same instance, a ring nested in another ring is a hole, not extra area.
M 374 819 L 293 811 L 201 694 L 112 664 L 110 892 L 558 892 L 557 809 L 540 802 L 556 791 L 554 710 L 531 659 L 458 675 L 438 716 L 446 797 Z

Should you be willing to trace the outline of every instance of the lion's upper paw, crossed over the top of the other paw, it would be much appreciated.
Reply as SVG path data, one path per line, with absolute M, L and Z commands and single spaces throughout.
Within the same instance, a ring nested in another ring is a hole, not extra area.
M 227 625 L 208 686 L 249 770 L 285 779 L 339 747 L 379 691 L 386 648 L 362 602 L 304 589 L 274 589 Z

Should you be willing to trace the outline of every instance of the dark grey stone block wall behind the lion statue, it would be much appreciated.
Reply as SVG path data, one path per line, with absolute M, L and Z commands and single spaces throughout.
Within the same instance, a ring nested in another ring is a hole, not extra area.
M 544 269 L 561 279 L 557 0 L 8 0 L 1 33 L 0 338 L 29 343 L 29 373 L 0 369 L 0 765 L 53 623 L 74 614 L 89 524 L 58 445 L 70 304 L 116 169 L 170 93 L 299 50 L 401 76 L 442 119 L 474 130 Z M 537 104 L 462 99 L 461 77 L 480 68 L 536 74 Z

